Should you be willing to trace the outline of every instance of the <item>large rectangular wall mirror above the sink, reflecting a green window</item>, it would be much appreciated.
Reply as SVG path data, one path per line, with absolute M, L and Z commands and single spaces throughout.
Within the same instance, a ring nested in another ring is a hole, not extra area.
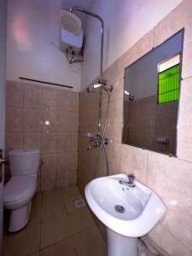
M 183 30 L 125 68 L 122 143 L 177 154 Z

